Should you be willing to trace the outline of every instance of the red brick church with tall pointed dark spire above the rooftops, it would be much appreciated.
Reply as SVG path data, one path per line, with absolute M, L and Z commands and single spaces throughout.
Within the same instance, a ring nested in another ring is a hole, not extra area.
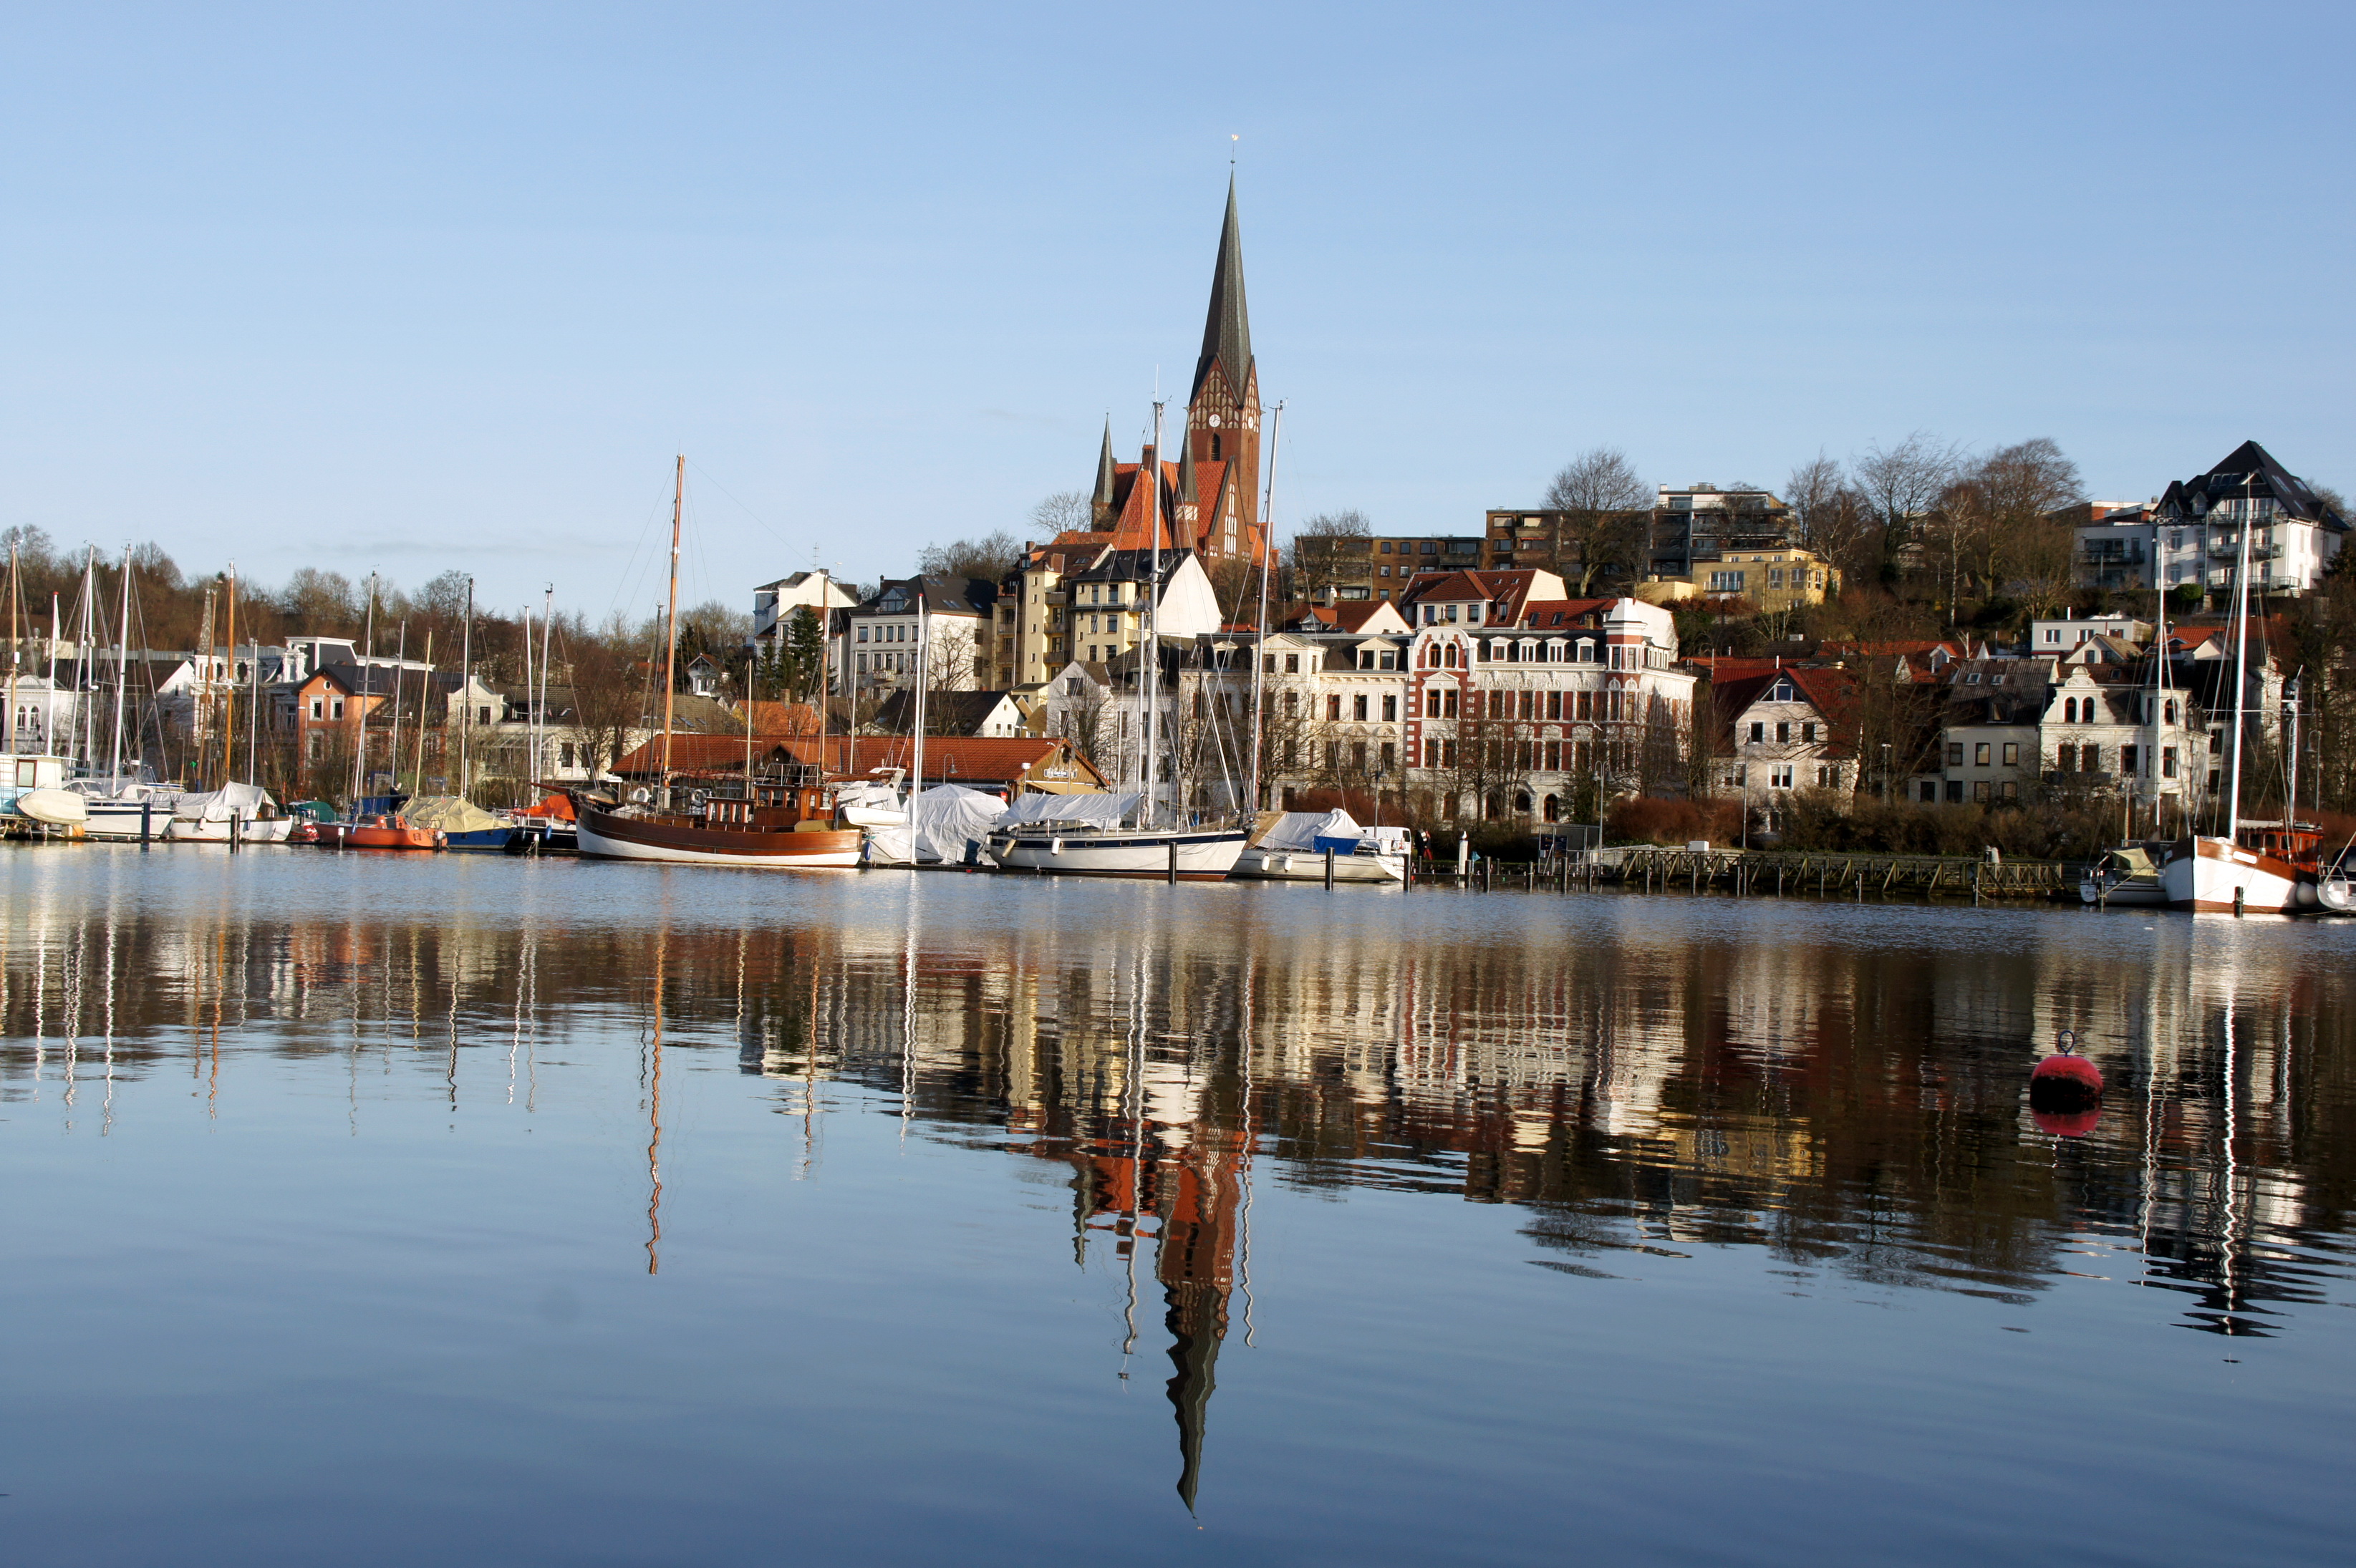
M 1112 421 L 1096 459 L 1088 527 L 1114 549 L 1190 549 L 1204 563 L 1260 553 L 1260 370 L 1251 358 L 1251 313 L 1244 308 L 1244 233 L 1235 219 L 1235 179 L 1227 179 L 1227 221 L 1218 231 L 1211 271 L 1211 315 L 1202 327 L 1202 358 L 1185 407 L 1178 461 L 1145 447 L 1140 461 L 1112 461 Z M 1159 485 L 1140 485 L 1157 473 Z

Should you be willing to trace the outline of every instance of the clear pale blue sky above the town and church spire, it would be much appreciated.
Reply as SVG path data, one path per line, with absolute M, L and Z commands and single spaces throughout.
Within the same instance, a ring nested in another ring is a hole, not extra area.
M 2356 487 L 2351 7 L 12 7 L 0 523 L 591 617 L 1133 452 L 1230 137 L 1279 520 L 1927 428 Z

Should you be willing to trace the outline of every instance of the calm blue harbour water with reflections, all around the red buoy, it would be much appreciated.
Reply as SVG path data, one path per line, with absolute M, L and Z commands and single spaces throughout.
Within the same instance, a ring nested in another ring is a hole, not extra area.
M 0 913 L 9 1563 L 2347 1554 L 2356 923 L 104 845 Z

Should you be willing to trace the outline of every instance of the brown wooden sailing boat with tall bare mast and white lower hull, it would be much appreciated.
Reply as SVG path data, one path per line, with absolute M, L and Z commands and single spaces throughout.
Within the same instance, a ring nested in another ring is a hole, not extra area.
M 671 798 L 671 718 L 679 690 L 679 518 L 688 459 L 671 478 L 671 593 L 662 652 L 662 779 L 627 805 L 573 791 L 580 852 L 683 866 L 836 869 L 860 864 L 858 829 L 834 824 L 825 772 L 787 765 L 777 779 L 714 779 L 679 810 Z

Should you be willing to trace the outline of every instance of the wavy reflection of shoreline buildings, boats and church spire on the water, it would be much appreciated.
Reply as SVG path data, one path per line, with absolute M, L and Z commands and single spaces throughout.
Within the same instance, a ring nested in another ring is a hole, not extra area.
M 1011 930 L 935 878 L 879 881 L 855 909 L 297 923 L 19 876 L 0 1092 L 78 1128 L 94 1052 L 106 1132 L 120 1081 L 186 1069 L 214 1104 L 236 1055 L 266 1050 L 346 1064 L 358 1128 L 363 1052 L 431 1059 L 455 1107 L 462 1057 L 497 1050 L 530 1111 L 544 1041 L 627 1029 L 648 1271 L 667 1052 L 676 1074 L 733 1050 L 799 1177 L 836 1088 L 905 1135 L 1065 1165 L 1074 1262 L 1112 1262 L 1129 1293 L 1124 1354 L 1159 1297 L 1190 1507 L 1218 1356 L 1249 1321 L 1256 1165 L 1296 1189 L 1520 1205 L 1536 1260 L 1571 1274 L 1703 1245 L 2003 1300 L 2092 1274 L 2179 1293 L 2179 1321 L 2222 1335 L 2318 1302 L 2342 1231 L 2349 982 L 2288 928 L 2165 921 L 2113 954 L 2069 918 L 1996 918 L 1967 942 L 1857 946 L 1828 918 L 1751 939 L 1586 899 L 1574 939 L 1522 939 L 1157 897 L 1091 904 L 1121 925 Z M 2111 1085 L 2083 1140 L 2024 1104 L 2059 1029 Z

